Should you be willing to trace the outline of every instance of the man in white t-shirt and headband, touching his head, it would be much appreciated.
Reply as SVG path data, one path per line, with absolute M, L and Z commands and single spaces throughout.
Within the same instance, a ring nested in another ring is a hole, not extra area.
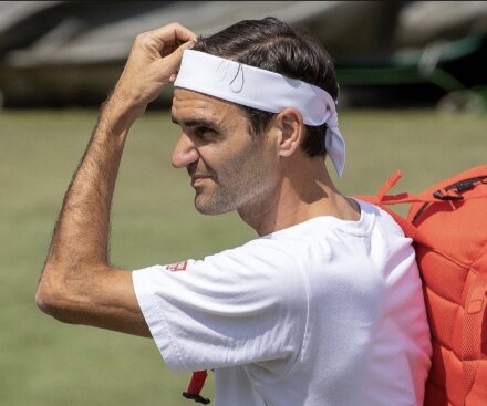
M 197 210 L 237 210 L 259 238 L 131 273 L 108 263 L 112 194 L 131 125 L 169 82 L 173 165 Z M 153 336 L 174 371 L 214 368 L 217 405 L 421 405 L 431 348 L 414 251 L 388 215 L 334 187 L 336 96 L 328 53 L 276 19 L 137 37 L 66 192 L 40 308 Z

